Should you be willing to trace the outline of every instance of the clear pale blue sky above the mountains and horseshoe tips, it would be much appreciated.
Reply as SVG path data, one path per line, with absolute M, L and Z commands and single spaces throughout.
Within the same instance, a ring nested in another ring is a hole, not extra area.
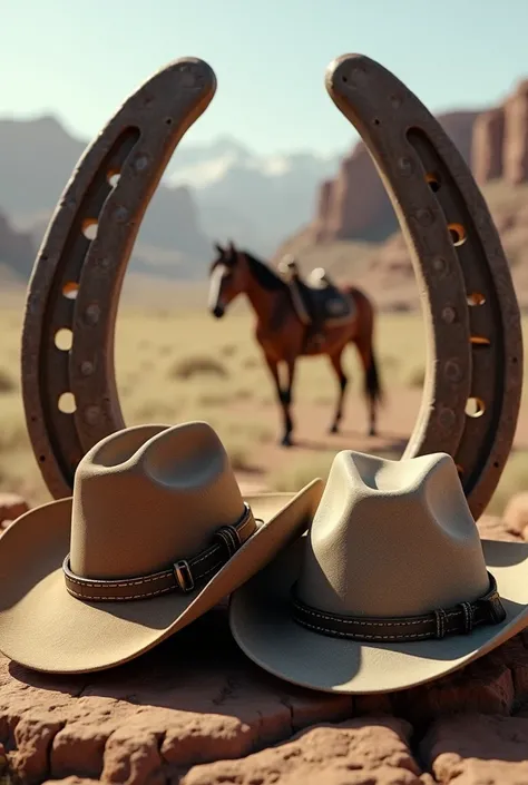
M 353 130 L 324 69 L 356 51 L 426 105 L 492 104 L 528 77 L 528 0 L 3 0 L 0 115 L 58 115 L 91 138 L 160 66 L 193 55 L 216 71 L 186 136 L 256 151 L 341 150 Z

